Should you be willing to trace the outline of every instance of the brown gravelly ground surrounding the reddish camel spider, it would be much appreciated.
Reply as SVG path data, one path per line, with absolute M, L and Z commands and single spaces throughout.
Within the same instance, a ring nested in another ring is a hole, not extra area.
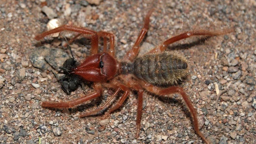
M 43 101 L 72 100 L 84 94 L 82 88 L 78 88 L 67 95 L 48 64 L 45 63 L 45 69 L 41 70 L 30 61 L 30 56 L 40 46 L 49 50 L 57 48 L 69 56 L 68 50 L 62 47 L 65 42 L 62 38 L 34 39 L 47 30 L 46 24 L 51 18 L 60 18 L 63 24 L 72 22 L 92 30 L 111 32 L 115 35 L 116 56 L 121 60 L 136 41 L 151 7 L 155 10 L 141 46 L 142 54 L 187 30 L 234 28 L 230 34 L 207 40 L 198 37 L 181 40 L 168 50 L 178 52 L 190 61 L 189 76 L 180 86 L 197 109 L 204 136 L 212 144 L 256 143 L 255 0 L 88 2 L 0 0 L 0 143 L 203 143 L 195 133 L 188 108 L 178 94 L 159 98 L 144 93 L 138 139 L 134 138 L 136 93 L 130 94 L 122 107 L 103 121 L 102 114 L 86 118 L 78 116 L 102 104 L 111 90 L 104 90 L 99 100 L 72 109 L 49 110 L 40 106 Z M 89 44 L 74 42 L 71 46 L 78 60 L 90 53 Z M 45 62 L 47 54 L 39 54 L 43 56 L 40 62 Z M 220 96 L 216 108 L 218 90 L 227 91 Z

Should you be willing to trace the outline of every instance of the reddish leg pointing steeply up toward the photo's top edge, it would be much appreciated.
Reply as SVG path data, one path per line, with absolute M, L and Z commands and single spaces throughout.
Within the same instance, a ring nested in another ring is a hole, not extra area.
M 142 28 L 142 30 L 140 31 L 140 34 L 134 44 L 134 46 L 132 47 L 131 50 L 129 50 L 126 55 L 124 56 L 124 60 L 130 60 L 133 61 L 134 58 L 138 55 L 139 49 L 140 49 L 140 43 L 142 42 L 145 34 L 148 32 L 148 27 L 149 27 L 149 18 L 150 15 L 152 14 L 154 9 L 151 9 L 148 14 L 146 15 L 145 18 L 145 22 L 144 22 L 144 26 Z

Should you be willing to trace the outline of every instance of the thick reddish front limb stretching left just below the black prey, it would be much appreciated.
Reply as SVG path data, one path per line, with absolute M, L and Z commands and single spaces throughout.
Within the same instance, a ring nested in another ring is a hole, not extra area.
M 68 102 L 42 102 L 41 106 L 44 108 L 72 108 L 74 106 L 77 106 L 78 104 L 82 104 L 83 102 L 86 102 L 88 100 L 92 100 L 93 98 L 98 98 L 99 96 L 101 96 L 102 88 L 100 84 L 95 84 L 94 90 L 95 92 L 92 92 L 91 94 L 77 98 L 75 100 L 70 100 Z

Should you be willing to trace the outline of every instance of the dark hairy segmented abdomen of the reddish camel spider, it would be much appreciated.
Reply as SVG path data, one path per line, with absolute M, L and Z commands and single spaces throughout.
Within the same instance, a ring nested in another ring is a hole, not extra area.
M 134 60 L 133 74 L 154 85 L 176 84 L 188 74 L 187 60 L 171 52 L 148 54 Z

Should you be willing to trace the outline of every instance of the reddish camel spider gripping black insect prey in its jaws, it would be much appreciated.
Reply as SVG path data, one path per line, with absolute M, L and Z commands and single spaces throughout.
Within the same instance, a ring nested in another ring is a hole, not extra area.
M 162 45 L 154 48 L 148 54 L 137 58 L 139 52 L 140 43 L 142 42 L 146 32 L 148 31 L 150 15 L 153 10 L 150 10 L 146 15 L 144 26 L 134 44 L 132 49 L 126 53 L 124 58 L 119 62 L 115 58 L 114 50 L 114 35 L 108 32 L 95 32 L 87 28 L 76 27 L 72 25 L 63 25 L 53 30 L 49 30 L 39 34 L 35 37 L 36 40 L 40 40 L 45 36 L 55 34 L 62 31 L 76 32 L 77 35 L 70 40 L 72 42 L 78 36 L 84 36 L 91 40 L 91 55 L 87 57 L 83 62 L 77 64 L 74 58 L 68 59 L 62 70 L 66 74 L 61 78 L 61 84 L 64 91 L 70 94 L 74 91 L 79 84 L 80 80 L 92 82 L 94 92 L 71 100 L 68 102 L 42 102 L 44 108 L 71 108 L 82 104 L 93 98 L 98 98 L 102 94 L 102 88 L 112 88 L 115 90 L 114 94 L 106 101 L 103 106 L 100 106 L 96 110 L 85 112 L 80 117 L 90 116 L 97 114 L 100 110 L 106 108 L 110 101 L 119 93 L 122 92 L 121 98 L 118 100 L 105 116 L 108 116 L 111 112 L 122 106 L 124 100 L 130 93 L 130 90 L 136 90 L 138 92 L 138 110 L 136 116 L 138 138 L 140 132 L 140 121 L 142 116 L 142 101 L 143 93 L 146 90 L 152 94 L 158 96 L 166 96 L 173 93 L 179 93 L 184 99 L 186 105 L 190 110 L 190 114 L 193 117 L 193 126 L 196 133 L 206 143 L 209 143 L 204 135 L 200 132 L 198 127 L 198 119 L 196 110 L 190 101 L 190 98 L 186 95 L 186 92 L 180 86 L 174 86 L 177 81 L 182 80 L 188 74 L 187 60 L 184 56 L 179 54 L 173 54 L 172 52 L 164 52 L 169 44 L 189 38 L 191 36 L 216 36 L 227 34 L 232 30 L 191 30 L 184 32 L 178 36 L 174 36 Z M 98 40 L 103 38 L 103 52 L 98 53 Z M 107 50 L 107 40 L 110 41 L 110 48 Z M 167 87 L 168 86 L 168 87 Z

